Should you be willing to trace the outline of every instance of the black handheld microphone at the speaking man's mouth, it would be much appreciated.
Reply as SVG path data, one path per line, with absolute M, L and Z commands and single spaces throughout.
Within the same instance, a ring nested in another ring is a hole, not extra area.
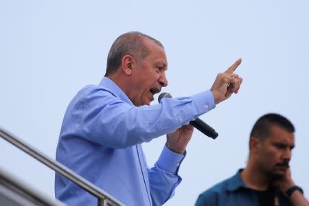
M 170 93 L 163 92 L 159 95 L 158 102 L 160 103 L 161 99 L 163 98 L 172 98 L 172 95 L 170 95 Z M 190 124 L 200 130 L 207 137 L 211 137 L 212 139 L 216 139 L 218 137 L 218 133 L 216 133 L 216 130 L 214 130 L 214 128 L 211 128 L 211 126 L 203 122 L 203 120 L 200 118 L 191 121 Z

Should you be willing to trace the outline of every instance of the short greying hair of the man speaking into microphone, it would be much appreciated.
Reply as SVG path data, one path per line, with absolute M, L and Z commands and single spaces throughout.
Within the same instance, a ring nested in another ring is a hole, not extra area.
M 146 58 L 149 51 L 144 44 L 144 38 L 148 38 L 164 48 L 157 39 L 141 32 L 127 32 L 122 34 L 116 38 L 108 52 L 105 76 L 109 76 L 117 71 L 122 63 L 122 58 L 127 54 L 132 55 L 134 58 L 137 58 L 137 60 Z

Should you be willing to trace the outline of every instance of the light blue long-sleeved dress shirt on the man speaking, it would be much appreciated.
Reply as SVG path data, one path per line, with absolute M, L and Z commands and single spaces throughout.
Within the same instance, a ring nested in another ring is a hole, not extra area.
M 204 91 L 190 98 L 134 106 L 109 78 L 84 87 L 69 104 L 62 122 L 56 160 L 125 205 L 163 205 L 181 182 L 184 155 L 164 147 L 148 168 L 141 143 L 171 133 L 215 107 Z M 67 205 L 97 205 L 97 199 L 56 174 L 56 198 Z

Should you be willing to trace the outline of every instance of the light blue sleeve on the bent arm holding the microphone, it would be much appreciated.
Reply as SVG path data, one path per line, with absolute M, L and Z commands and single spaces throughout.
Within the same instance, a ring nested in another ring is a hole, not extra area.
M 181 183 L 178 170 L 184 157 L 164 146 L 159 160 L 148 170 L 152 205 L 163 205 L 174 196 L 175 188 Z

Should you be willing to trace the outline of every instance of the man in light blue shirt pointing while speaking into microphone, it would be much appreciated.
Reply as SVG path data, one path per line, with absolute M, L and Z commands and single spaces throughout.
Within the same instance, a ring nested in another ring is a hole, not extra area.
M 69 104 L 56 159 L 125 205 L 163 205 L 181 182 L 179 165 L 193 132 L 189 122 L 238 93 L 242 78 L 233 71 L 240 62 L 219 73 L 210 90 L 150 106 L 168 85 L 163 45 L 139 32 L 122 34 L 100 84 L 84 87 Z M 141 143 L 165 134 L 159 160 L 148 168 Z M 58 174 L 55 194 L 67 205 L 97 205 Z

